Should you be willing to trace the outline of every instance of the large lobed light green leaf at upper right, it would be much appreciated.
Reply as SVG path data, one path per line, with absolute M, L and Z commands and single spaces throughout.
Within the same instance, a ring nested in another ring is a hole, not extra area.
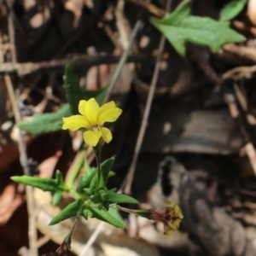
M 190 0 L 185 0 L 163 19 L 150 18 L 180 55 L 186 53 L 186 43 L 205 45 L 216 51 L 224 44 L 238 43 L 245 38 L 232 30 L 228 22 L 190 15 Z

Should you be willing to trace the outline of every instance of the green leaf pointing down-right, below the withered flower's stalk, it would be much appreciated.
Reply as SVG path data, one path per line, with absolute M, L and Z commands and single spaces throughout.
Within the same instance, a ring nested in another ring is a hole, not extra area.
M 88 207 L 87 210 L 88 210 L 90 218 L 98 218 L 102 221 L 112 224 L 113 226 L 115 226 L 117 228 L 120 228 L 123 230 L 125 229 L 125 224 L 123 223 L 123 221 L 120 221 L 119 219 L 115 218 L 111 214 L 112 212 L 108 212 L 104 208 L 99 210 L 99 209 Z M 82 214 L 83 214 L 83 212 L 82 212 Z

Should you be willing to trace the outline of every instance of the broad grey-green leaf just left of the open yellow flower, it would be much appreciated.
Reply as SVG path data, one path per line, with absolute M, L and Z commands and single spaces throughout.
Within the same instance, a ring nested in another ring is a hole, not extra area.
M 63 125 L 62 117 L 69 116 L 71 112 L 68 104 L 65 104 L 55 113 L 37 114 L 33 119 L 21 121 L 16 125 L 33 136 L 38 136 L 44 133 L 60 131 Z

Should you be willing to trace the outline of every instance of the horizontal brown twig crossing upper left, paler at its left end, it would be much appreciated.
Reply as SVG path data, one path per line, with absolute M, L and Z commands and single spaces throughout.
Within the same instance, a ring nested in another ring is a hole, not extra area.
M 79 55 L 77 57 L 73 57 L 72 59 L 63 59 L 56 61 L 43 61 L 43 62 L 26 62 L 26 63 L 12 63 L 6 62 L 1 63 L 0 65 L 0 73 L 18 73 L 18 75 L 26 75 L 36 72 L 46 72 L 52 69 L 63 70 L 63 68 L 70 64 L 73 67 L 91 67 L 95 65 L 101 64 L 112 64 L 117 63 L 119 61 L 120 56 L 118 55 L 97 55 L 97 56 L 87 56 L 87 55 Z M 127 57 L 125 61 L 133 62 L 133 61 L 143 61 L 148 57 L 145 55 L 131 55 Z

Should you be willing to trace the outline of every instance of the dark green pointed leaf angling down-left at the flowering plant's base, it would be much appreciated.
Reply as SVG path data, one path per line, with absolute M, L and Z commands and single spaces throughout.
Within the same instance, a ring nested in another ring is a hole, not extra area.
M 49 225 L 58 224 L 59 222 L 67 218 L 78 216 L 79 211 L 81 210 L 82 207 L 84 207 L 84 201 L 82 199 L 74 201 L 73 203 L 65 207 L 59 214 L 57 214 L 55 218 L 51 220 Z

